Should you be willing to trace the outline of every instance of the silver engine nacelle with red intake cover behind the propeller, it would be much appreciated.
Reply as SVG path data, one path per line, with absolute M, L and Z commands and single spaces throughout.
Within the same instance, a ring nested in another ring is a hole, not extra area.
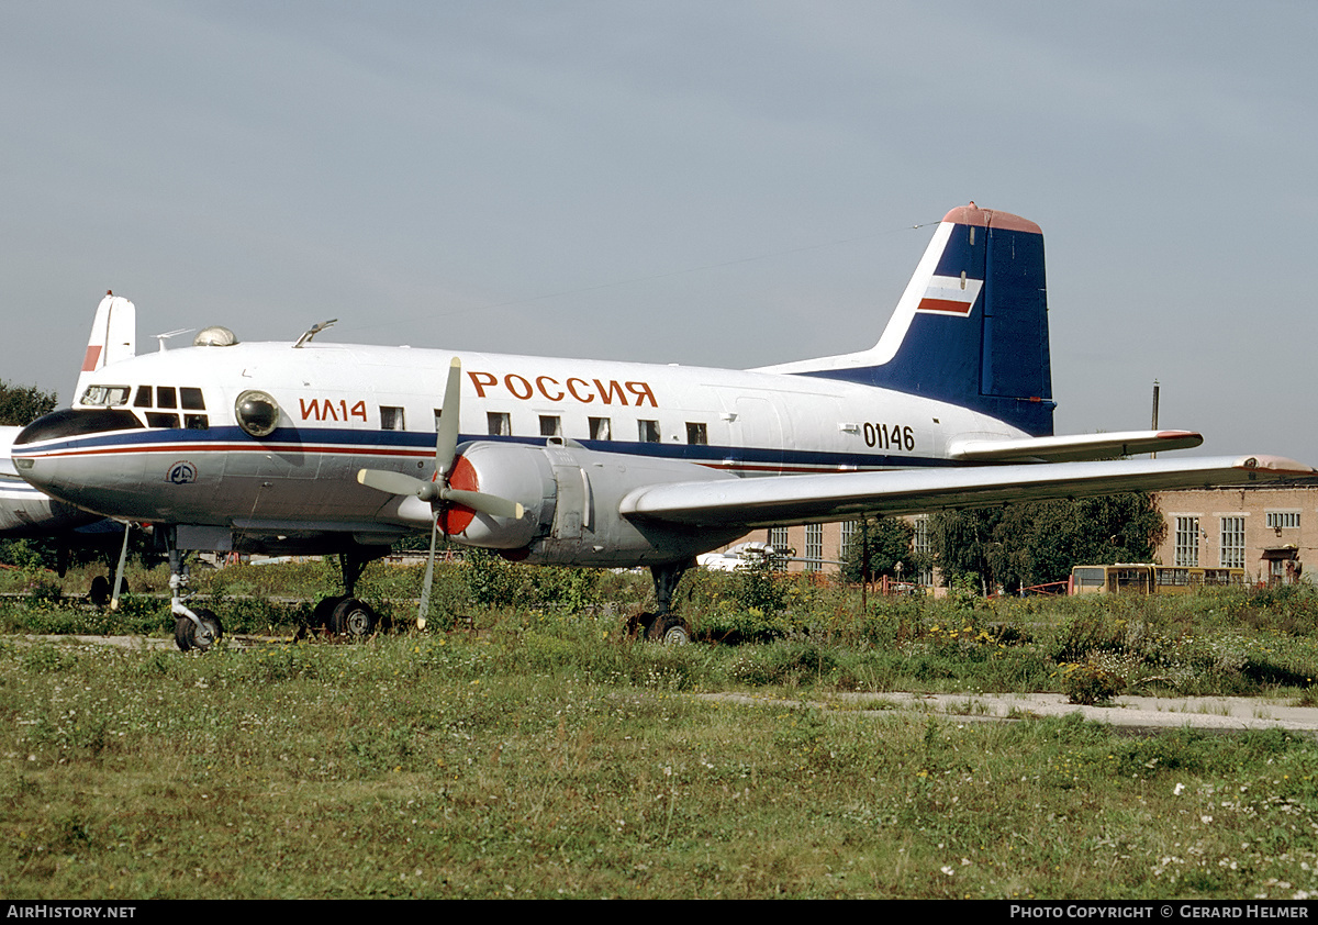
M 709 531 L 631 520 L 618 502 L 638 488 L 734 476 L 681 460 L 605 453 L 571 443 L 526 445 L 469 443 L 459 448 L 452 488 L 521 502 L 521 519 L 449 505 L 442 527 L 449 539 L 500 549 L 509 559 L 554 565 L 648 565 L 722 546 L 741 531 Z M 399 517 L 427 523 L 430 505 L 407 498 Z

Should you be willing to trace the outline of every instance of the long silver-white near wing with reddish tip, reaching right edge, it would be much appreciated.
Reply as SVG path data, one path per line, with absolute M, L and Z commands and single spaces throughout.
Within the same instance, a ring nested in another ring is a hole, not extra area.
M 749 530 L 1313 474 L 1318 469 L 1278 456 L 892 469 L 654 485 L 623 497 L 619 511 L 633 519 Z

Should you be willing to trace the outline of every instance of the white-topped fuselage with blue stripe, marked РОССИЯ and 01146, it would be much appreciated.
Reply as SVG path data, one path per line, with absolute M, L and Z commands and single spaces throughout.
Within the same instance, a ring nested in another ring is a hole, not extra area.
M 53 495 L 108 517 L 389 543 L 424 527 L 428 506 L 358 485 L 355 473 L 369 466 L 434 476 L 435 420 L 453 356 L 279 343 L 144 354 L 104 368 L 79 397 L 70 414 L 79 423 L 65 430 L 90 432 L 61 432 L 57 422 L 29 432 L 16 457 Z M 608 530 L 609 518 L 590 506 L 634 484 L 708 478 L 710 470 L 741 477 L 949 465 L 953 440 L 1027 436 L 946 402 L 811 376 L 460 356 L 461 440 L 568 451 L 550 461 L 542 481 L 552 477 L 563 488 L 573 478 L 560 469 L 580 470 L 580 497 L 569 491 L 558 503 L 581 507 L 583 532 Z M 252 393 L 278 406 L 266 436 L 240 426 L 236 408 Z M 87 423 L 88 415 L 103 420 Z M 534 485 L 526 490 L 535 495 Z M 473 528 L 469 539 L 538 560 L 546 542 L 579 530 L 561 514 L 485 542 Z M 685 555 L 737 534 L 706 531 L 677 546 Z M 550 560 L 637 563 L 642 547 L 656 547 L 656 538 L 598 539 Z M 672 556 L 671 542 L 658 543 L 662 556 Z M 598 555 L 590 555 L 596 546 Z

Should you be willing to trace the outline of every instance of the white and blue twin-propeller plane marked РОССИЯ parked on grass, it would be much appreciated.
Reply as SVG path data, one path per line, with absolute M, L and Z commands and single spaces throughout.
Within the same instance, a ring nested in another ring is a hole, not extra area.
M 416 531 L 422 623 L 438 534 L 526 563 L 646 565 L 646 634 L 681 642 L 677 578 L 757 527 L 1314 472 L 1112 459 L 1199 445 L 1188 431 L 1053 435 L 1043 233 L 974 203 L 938 224 L 874 347 L 762 369 L 314 340 L 332 322 L 119 356 L 130 312 L 101 302 L 76 401 L 13 460 L 54 498 L 156 524 L 185 650 L 221 632 L 186 605 L 192 549 L 339 553 L 343 594 L 318 605 L 336 632 L 372 630 L 355 581 Z

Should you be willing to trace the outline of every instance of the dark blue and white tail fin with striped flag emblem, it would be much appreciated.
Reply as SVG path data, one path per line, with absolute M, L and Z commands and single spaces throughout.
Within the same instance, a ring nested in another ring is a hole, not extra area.
M 952 402 L 1053 432 L 1044 235 L 974 203 L 944 216 L 879 343 L 771 366 Z

